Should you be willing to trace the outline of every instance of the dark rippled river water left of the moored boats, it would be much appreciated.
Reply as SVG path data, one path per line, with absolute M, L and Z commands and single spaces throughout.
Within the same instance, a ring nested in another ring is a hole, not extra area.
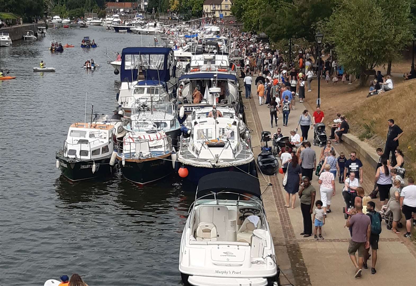
M 98 43 L 82 49 L 82 37 Z M 51 40 L 74 44 L 63 53 Z M 89 285 L 178 285 L 178 252 L 194 193 L 172 176 L 145 189 L 118 171 L 101 181 L 70 183 L 55 167 L 70 124 L 87 111 L 111 114 L 119 75 L 106 51 L 153 43 L 153 36 L 101 26 L 48 29 L 34 42 L 0 48 L 0 285 L 43 285 L 73 273 Z M 160 41 L 159 41 L 160 42 Z M 102 66 L 82 69 L 87 59 Z M 32 72 L 43 60 L 55 73 Z

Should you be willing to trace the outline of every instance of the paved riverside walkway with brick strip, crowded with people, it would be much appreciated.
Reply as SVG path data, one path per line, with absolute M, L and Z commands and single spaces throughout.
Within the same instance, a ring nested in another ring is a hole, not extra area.
M 254 81 L 253 81 L 254 82 Z M 243 84 L 241 84 L 243 87 Z M 244 94 L 244 92 L 243 92 Z M 258 105 L 258 98 L 255 96 L 256 88 L 253 85 L 250 100 L 243 99 L 248 124 L 253 132 L 253 146 L 260 141 L 262 130 L 270 131 L 272 134 L 276 128 L 270 128 L 270 114 L 267 105 Z M 308 92 L 306 93 L 307 96 Z M 243 97 L 245 97 L 243 95 Z M 279 117 L 279 127 L 282 128 L 284 136 L 289 136 L 289 130 L 295 129 L 297 120 L 304 109 L 314 111 L 311 107 L 296 103 L 295 110 L 290 112 L 288 127 L 282 126 L 282 116 Z M 311 113 L 312 113 L 311 112 Z M 328 121 L 330 119 L 327 119 Z M 328 123 L 328 121 L 325 122 Z M 328 132 L 329 133 L 329 132 Z M 313 130 L 309 132 L 309 139 L 312 140 Z M 312 149 L 319 154 L 321 149 L 312 146 Z M 339 152 L 349 154 L 347 149 L 340 144 L 335 145 L 337 156 Z M 254 148 L 255 154 L 260 153 L 260 148 Z M 347 156 L 349 158 L 349 156 Z M 259 175 L 261 185 L 265 189 L 267 183 L 263 182 Z M 416 284 L 416 251 L 415 246 L 403 235 L 393 234 L 382 224 L 382 232 L 379 241 L 378 259 L 376 264 L 377 274 L 372 275 L 370 269 L 363 269 L 362 279 L 354 279 L 354 266 L 347 254 L 349 231 L 344 228 L 345 219 L 342 213 L 344 200 L 341 195 L 342 185 L 336 183 L 336 195 L 332 198 L 332 212 L 328 214 L 325 225 L 322 227 L 324 240 L 315 241 L 313 236 L 304 238 L 300 236 L 303 230 L 303 220 L 300 211 L 299 197 L 295 203 L 295 209 L 287 209 L 285 204 L 285 190 L 281 185 L 281 175 L 265 176 L 272 186 L 267 188 L 263 195 L 270 227 L 273 231 L 273 239 L 276 247 L 276 255 L 280 267 L 287 274 L 287 278 L 295 285 L 415 285 Z M 374 174 L 364 173 L 363 187 L 366 194 L 371 192 L 373 187 Z M 320 199 L 319 184 L 314 176 L 312 185 L 317 190 L 316 199 Z M 379 199 L 374 200 L 379 206 Z M 403 229 L 402 229 L 403 231 Z M 280 254 L 279 251 L 282 251 Z M 289 259 L 289 261 L 287 261 Z M 290 262 L 290 263 L 288 263 Z M 371 264 L 371 261 L 369 261 Z M 394 267 L 392 267 L 394 266 Z M 287 280 L 283 277 L 282 284 Z

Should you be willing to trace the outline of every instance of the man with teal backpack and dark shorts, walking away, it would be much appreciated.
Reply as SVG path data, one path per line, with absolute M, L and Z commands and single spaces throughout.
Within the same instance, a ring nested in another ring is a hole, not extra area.
M 371 233 L 370 233 L 370 246 L 371 246 L 371 274 L 376 274 L 376 262 L 377 262 L 377 249 L 379 249 L 379 238 L 381 233 L 381 215 L 376 211 L 376 204 L 374 201 L 367 203 L 367 216 L 370 217 Z M 368 269 L 367 260 L 369 259 L 369 250 L 367 248 L 364 254 L 364 269 Z

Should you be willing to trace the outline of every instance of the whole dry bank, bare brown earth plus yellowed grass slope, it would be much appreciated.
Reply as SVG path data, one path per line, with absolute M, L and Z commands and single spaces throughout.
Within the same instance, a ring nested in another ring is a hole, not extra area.
M 325 122 L 332 121 L 337 113 L 345 114 L 350 133 L 375 148 L 384 149 L 388 130 L 387 119 L 393 118 L 404 131 L 400 146 L 404 152 L 406 177 L 416 178 L 416 80 L 403 81 L 393 77 L 394 90 L 367 98 L 368 87 L 329 85 L 321 80 L 321 109 Z M 314 107 L 317 98 L 317 80 L 312 82 L 312 92 L 306 92 L 307 102 Z

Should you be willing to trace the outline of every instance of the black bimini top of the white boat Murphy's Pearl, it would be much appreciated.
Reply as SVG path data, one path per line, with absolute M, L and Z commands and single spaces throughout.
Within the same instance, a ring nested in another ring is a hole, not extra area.
M 220 191 L 250 194 L 261 198 L 259 180 L 241 172 L 217 172 L 199 179 L 196 199 Z

